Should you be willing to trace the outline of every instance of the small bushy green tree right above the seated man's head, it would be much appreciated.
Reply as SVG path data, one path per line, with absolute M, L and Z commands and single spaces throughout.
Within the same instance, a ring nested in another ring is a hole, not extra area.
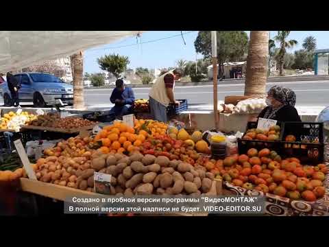
M 97 58 L 97 62 L 101 69 L 112 73 L 117 79 L 127 69 L 127 64 L 130 63 L 127 56 L 119 56 L 119 54 L 101 56 Z

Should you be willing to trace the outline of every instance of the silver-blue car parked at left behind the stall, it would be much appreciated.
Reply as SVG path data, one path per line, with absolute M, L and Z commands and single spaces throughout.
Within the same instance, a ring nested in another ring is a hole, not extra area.
M 14 75 L 21 82 L 19 102 L 33 102 L 36 107 L 55 104 L 61 99 L 64 104 L 73 104 L 73 86 L 48 73 L 18 73 Z M 10 106 L 11 97 L 8 84 L 0 85 L 0 94 L 5 106 Z

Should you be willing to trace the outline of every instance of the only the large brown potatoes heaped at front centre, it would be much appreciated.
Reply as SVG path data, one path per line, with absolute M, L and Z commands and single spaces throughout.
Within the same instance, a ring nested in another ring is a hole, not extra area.
M 206 172 L 203 166 L 183 161 L 170 161 L 166 156 L 153 156 L 135 153 L 131 156 L 123 154 L 101 154 L 92 159 L 90 174 L 93 169 L 112 175 L 111 194 L 116 196 L 133 195 L 191 195 L 202 193 L 216 195 L 214 175 Z M 78 178 L 79 180 L 79 178 Z M 82 178 L 82 181 L 86 178 Z M 93 176 L 88 178 L 91 187 Z M 82 182 L 81 182 L 82 183 Z M 83 182 L 85 183 L 85 182 Z

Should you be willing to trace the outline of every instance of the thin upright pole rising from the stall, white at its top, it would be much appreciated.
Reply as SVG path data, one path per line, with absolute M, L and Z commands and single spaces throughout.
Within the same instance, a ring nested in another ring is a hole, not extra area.
M 215 120 L 215 129 L 218 130 L 219 126 L 219 115 L 218 115 L 218 99 L 217 99 L 217 33 L 216 31 L 211 31 L 211 57 L 212 57 L 212 80 L 213 80 L 213 102 L 214 102 L 214 120 Z

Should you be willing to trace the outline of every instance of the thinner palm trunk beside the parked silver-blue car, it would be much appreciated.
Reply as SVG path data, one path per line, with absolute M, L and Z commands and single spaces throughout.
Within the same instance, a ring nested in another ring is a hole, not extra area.
M 73 59 L 73 107 L 84 109 L 84 57 L 82 51 L 71 56 Z

